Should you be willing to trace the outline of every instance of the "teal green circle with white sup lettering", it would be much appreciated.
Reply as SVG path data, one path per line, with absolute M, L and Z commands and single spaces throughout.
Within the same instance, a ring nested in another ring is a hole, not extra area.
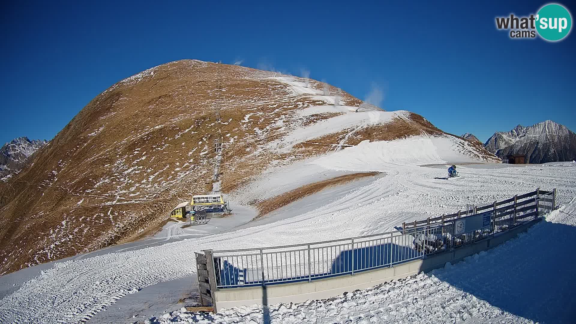
M 536 14 L 536 30 L 540 37 L 550 42 L 563 39 L 572 29 L 572 16 L 562 5 L 550 3 Z

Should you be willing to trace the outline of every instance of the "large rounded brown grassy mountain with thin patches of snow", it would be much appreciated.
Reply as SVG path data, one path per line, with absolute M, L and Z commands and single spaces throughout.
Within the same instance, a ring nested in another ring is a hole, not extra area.
M 230 192 L 272 161 L 291 163 L 365 139 L 446 135 L 403 112 L 391 122 L 319 127 L 284 141 L 299 127 L 358 116 L 361 104 L 322 82 L 195 60 L 122 80 L 90 101 L 31 165 L 0 183 L 7 197 L 0 205 L 0 274 L 125 242 L 161 223 L 172 206 L 211 189 L 215 140 L 223 147 L 222 191 Z

